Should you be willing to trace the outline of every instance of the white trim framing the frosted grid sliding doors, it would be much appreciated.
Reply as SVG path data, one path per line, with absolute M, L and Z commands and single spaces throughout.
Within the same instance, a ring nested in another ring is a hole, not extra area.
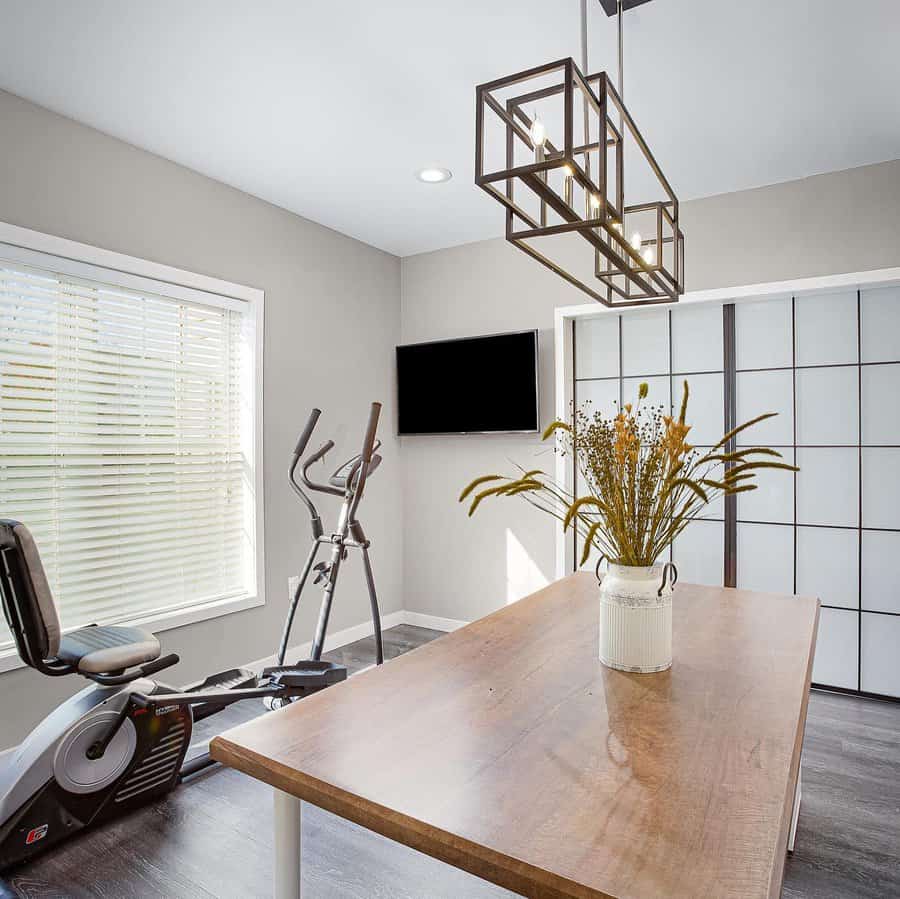
M 693 290 L 686 292 L 678 306 L 694 303 L 741 303 L 748 300 L 759 300 L 769 296 L 790 294 L 799 296 L 803 293 L 818 293 L 827 290 L 852 288 L 864 290 L 868 287 L 888 287 L 900 284 L 900 268 L 880 268 L 865 272 L 850 272 L 841 275 L 823 275 L 814 278 L 793 278 L 787 281 L 768 281 L 760 284 L 748 284 L 739 287 L 716 287 L 710 290 Z M 650 307 L 648 307 L 650 308 Z M 674 303 L 665 303 L 652 307 L 654 310 L 677 308 Z M 640 306 L 625 309 L 609 308 L 599 303 L 582 303 L 577 306 L 558 306 L 554 314 L 554 386 L 556 388 L 556 418 L 565 421 L 569 416 L 574 399 L 573 383 L 573 325 L 580 318 L 597 318 L 604 315 L 640 314 Z M 556 454 L 555 475 L 557 483 L 571 490 L 572 466 L 566 456 Z M 562 528 L 556 529 L 556 577 L 565 577 L 572 571 L 575 561 L 575 548 L 571 535 L 564 534 Z

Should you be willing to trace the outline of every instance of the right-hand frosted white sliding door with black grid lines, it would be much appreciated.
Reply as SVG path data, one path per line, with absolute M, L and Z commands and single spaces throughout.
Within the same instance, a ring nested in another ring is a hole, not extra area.
M 740 497 L 738 586 L 818 596 L 813 681 L 900 696 L 900 290 L 735 306 L 737 420 L 795 458 Z

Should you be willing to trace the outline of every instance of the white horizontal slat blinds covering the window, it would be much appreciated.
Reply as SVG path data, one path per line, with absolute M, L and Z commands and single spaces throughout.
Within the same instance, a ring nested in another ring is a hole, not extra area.
M 235 305 L 0 256 L 0 515 L 34 533 L 63 627 L 248 592 Z

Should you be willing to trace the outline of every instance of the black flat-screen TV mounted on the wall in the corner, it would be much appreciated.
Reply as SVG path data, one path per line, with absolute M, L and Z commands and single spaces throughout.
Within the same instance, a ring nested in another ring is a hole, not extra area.
M 399 432 L 534 432 L 537 371 L 537 331 L 398 346 Z

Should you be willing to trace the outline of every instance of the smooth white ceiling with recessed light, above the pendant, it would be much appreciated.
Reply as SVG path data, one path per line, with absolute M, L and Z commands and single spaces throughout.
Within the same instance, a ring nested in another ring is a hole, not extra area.
M 615 71 L 590 7 L 590 68 Z M 0 0 L 0 87 L 398 255 L 498 236 L 474 86 L 578 57 L 579 0 Z M 900 157 L 898 0 L 654 0 L 629 109 L 682 199 Z M 2 123 L 0 123 L 2 127 Z M 421 184 L 425 165 L 451 169 Z

